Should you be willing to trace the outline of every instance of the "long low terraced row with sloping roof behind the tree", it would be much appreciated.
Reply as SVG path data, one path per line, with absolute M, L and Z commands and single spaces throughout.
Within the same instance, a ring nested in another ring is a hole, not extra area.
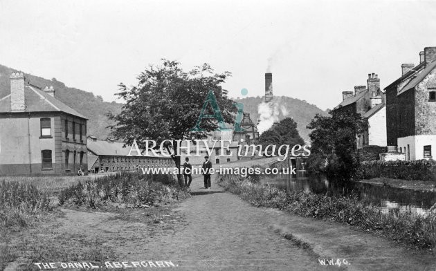
M 130 147 L 123 147 L 124 143 L 113 140 L 98 140 L 94 136 L 88 136 L 88 171 L 98 173 L 113 171 L 140 170 L 143 167 L 174 167 L 172 158 L 165 156 L 127 156 Z

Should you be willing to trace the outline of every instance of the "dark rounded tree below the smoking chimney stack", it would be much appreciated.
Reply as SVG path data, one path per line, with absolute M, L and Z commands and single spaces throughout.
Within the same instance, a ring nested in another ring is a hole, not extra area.
M 297 130 L 297 122 L 292 118 L 287 117 L 276 123 L 270 129 L 264 131 L 259 137 L 259 143 L 266 147 L 269 144 L 277 145 L 289 144 L 290 146 L 297 144 L 305 144 L 305 140 L 300 137 Z

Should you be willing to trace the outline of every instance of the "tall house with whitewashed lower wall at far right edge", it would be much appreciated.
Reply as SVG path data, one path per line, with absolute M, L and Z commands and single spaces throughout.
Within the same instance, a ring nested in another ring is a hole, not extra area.
M 406 160 L 433 158 L 436 148 L 435 60 L 436 47 L 424 48 L 419 64 L 402 64 L 401 77 L 385 88 L 388 145 Z

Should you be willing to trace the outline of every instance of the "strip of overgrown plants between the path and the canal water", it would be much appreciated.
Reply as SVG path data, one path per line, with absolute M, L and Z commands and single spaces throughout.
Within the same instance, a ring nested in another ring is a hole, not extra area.
M 273 207 L 301 216 L 347 223 L 418 249 L 433 250 L 436 246 L 436 214 L 383 213 L 376 206 L 365 205 L 356 195 L 326 196 L 305 191 L 288 193 L 277 187 L 260 185 L 258 178 L 224 175 L 219 176 L 218 183 L 257 207 Z

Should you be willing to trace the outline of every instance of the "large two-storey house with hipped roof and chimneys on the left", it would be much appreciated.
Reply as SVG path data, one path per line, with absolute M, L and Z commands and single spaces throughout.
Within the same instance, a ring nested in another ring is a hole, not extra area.
M 0 127 L 1 176 L 87 171 L 87 118 L 57 100 L 53 87 L 12 73 L 10 94 L 0 97 Z

